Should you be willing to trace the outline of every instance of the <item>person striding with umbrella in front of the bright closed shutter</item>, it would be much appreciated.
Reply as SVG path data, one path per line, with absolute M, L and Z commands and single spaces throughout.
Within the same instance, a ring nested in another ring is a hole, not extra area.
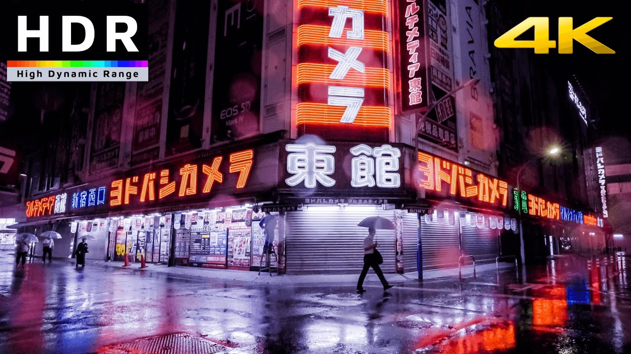
M 394 224 L 390 220 L 387 220 L 382 217 L 367 217 L 363 219 L 362 222 L 357 224 L 357 226 L 368 227 L 368 236 L 363 239 L 363 268 L 362 273 L 357 280 L 357 294 L 363 294 L 366 290 L 363 288 L 363 280 L 366 278 L 369 268 L 377 273 L 377 277 L 381 281 L 381 284 L 384 286 L 384 291 L 393 287 L 387 282 L 386 277 L 384 277 L 384 273 L 381 271 L 379 265 L 383 263 L 383 259 L 379 251 L 377 251 L 377 244 L 374 240 L 375 234 L 377 234 L 376 229 L 394 229 Z

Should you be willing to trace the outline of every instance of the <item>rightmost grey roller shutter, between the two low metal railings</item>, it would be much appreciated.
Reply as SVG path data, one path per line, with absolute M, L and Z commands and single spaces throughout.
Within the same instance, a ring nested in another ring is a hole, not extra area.
M 492 263 L 498 256 L 497 230 L 468 226 L 463 221 L 463 253 L 474 256 L 478 264 Z

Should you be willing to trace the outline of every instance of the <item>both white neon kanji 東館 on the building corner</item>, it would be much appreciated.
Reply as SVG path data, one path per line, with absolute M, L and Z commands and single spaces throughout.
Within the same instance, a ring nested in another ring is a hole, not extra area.
M 318 184 L 332 187 L 336 180 L 331 177 L 335 172 L 336 161 L 333 153 L 335 146 L 309 144 L 287 144 L 287 172 L 292 174 L 286 178 L 288 186 L 304 184 L 306 188 L 315 188 Z M 383 145 L 369 147 L 365 144 L 350 149 L 351 186 L 378 188 L 399 188 L 401 175 L 399 157 L 401 151 L 396 147 Z

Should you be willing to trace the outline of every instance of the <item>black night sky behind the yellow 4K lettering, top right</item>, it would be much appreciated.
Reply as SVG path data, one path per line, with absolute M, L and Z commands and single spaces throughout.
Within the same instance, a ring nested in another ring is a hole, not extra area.
M 628 109 L 623 106 L 629 101 L 627 84 L 631 83 L 630 19 L 626 6 L 623 6 L 627 1 L 519 0 L 510 3 L 523 9 L 519 18 L 550 17 L 551 40 L 557 40 L 559 16 L 574 18 L 575 27 L 597 16 L 613 17 L 613 20 L 590 31 L 589 35 L 615 50 L 616 54 L 597 55 L 581 43 L 574 42 L 574 54 L 560 55 L 557 49 L 551 49 L 550 54 L 538 55 L 538 59 L 546 66 L 577 77 L 589 96 L 590 109 L 598 111 L 604 135 L 630 139 L 631 123 L 628 122 Z

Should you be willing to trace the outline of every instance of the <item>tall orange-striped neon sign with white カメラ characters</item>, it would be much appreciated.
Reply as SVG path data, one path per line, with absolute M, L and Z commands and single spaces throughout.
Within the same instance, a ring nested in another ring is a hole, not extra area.
M 298 11 L 296 124 L 390 127 L 387 1 L 298 0 Z

